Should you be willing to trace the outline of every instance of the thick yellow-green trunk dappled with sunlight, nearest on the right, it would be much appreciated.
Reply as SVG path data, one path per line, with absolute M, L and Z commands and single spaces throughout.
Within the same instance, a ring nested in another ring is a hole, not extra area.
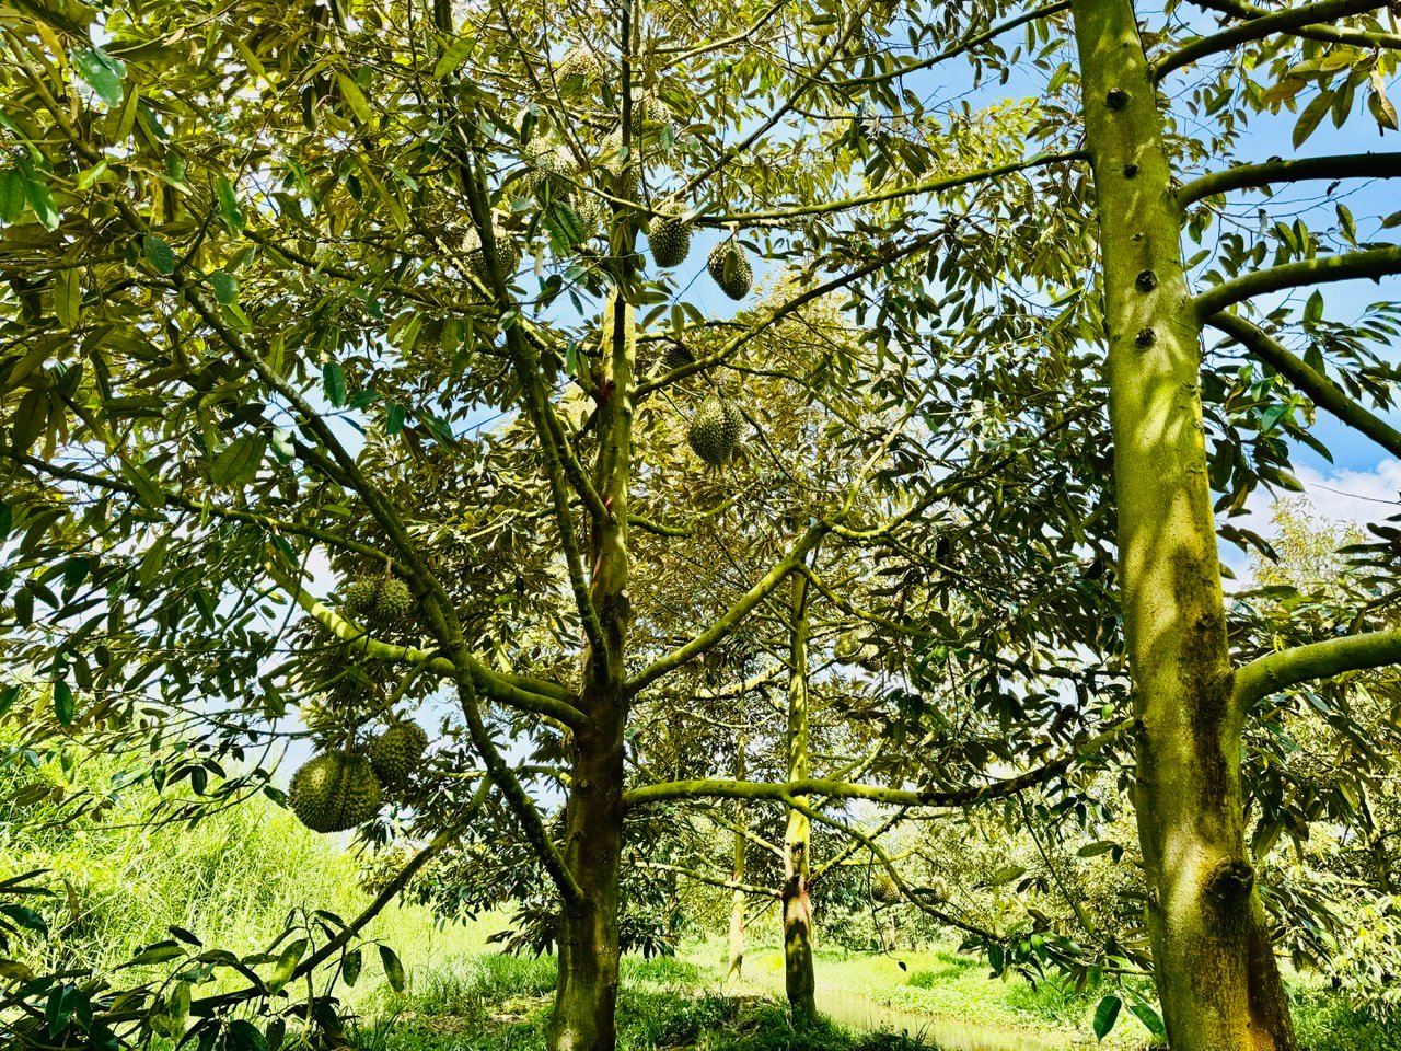
M 1174 1051 L 1292 1051 L 1245 852 L 1198 390 L 1201 327 L 1163 115 L 1131 0 L 1075 0 L 1104 255 L 1124 628 L 1139 719 L 1135 806 L 1154 981 Z

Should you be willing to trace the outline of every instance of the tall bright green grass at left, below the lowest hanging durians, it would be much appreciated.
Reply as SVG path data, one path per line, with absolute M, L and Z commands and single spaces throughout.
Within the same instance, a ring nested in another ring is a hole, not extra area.
M 272 800 L 249 799 L 193 827 L 151 827 L 154 789 L 115 789 L 122 767 L 112 758 L 67 772 L 0 764 L 0 872 L 48 869 L 60 891 L 43 908 L 50 937 L 21 947 L 31 966 L 105 970 L 170 937 L 170 925 L 249 953 L 265 949 L 294 909 L 350 915 L 363 907 L 356 859 Z M 66 793 L 109 795 L 115 806 L 99 820 L 60 821 L 53 804 L 17 804 L 15 790 L 38 779 Z

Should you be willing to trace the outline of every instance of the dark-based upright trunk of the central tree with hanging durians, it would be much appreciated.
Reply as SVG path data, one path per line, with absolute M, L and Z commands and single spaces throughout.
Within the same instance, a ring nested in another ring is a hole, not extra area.
M 574 733 L 565 862 L 581 891 L 560 915 L 559 981 L 546 1033 L 551 1051 L 612 1051 L 618 1043 L 618 872 L 622 859 L 623 652 L 628 631 L 628 486 L 632 455 L 632 364 L 635 317 L 621 291 L 604 314 L 612 348 L 611 395 L 600 399 L 601 436 L 594 483 L 611 516 L 595 523 L 588 544 L 590 598 L 604 650 L 584 656 L 580 710 L 587 724 Z

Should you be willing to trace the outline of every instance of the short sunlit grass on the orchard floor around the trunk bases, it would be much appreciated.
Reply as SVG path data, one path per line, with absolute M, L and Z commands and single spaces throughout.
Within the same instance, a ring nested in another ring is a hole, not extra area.
M 384 916 L 378 936 L 401 950 L 403 994 L 366 981 L 353 991 L 357 1051 L 539 1051 L 555 984 L 552 957 L 500 956 L 486 916 L 467 928 L 420 926 Z M 783 1010 L 782 953 L 755 946 L 743 981 L 726 981 L 719 942 L 675 959 L 626 959 L 618 1010 L 621 1051 L 1139 1051 L 1149 1031 L 1128 1009 L 1103 1044 L 1091 1017 L 1105 989 L 1077 995 L 1056 982 L 989 980 L 953 946 L 887 954 L 821 952 L 820 1026 L 797 1031 Z M 901 967 L 904 964 L 904 967 Z M 367 968 L 368 971 L 370 968 Z M 367 975 L 373 978 L 373 975 Z M 1401 1051 L 1401 1026 L 1303 995 L 1304 1051 Z

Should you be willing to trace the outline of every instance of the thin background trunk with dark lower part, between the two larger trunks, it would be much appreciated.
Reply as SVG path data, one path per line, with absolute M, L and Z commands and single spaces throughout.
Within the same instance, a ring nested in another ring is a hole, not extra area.
M 807 746 L 807 577 L 793 576 L 793 622 L 789 650 L 787 753 L 789 781 L 808 775 Z M 800 799 L 807 803 L 807 797 Z M 817 1017 L 813 978 L 811 827 L 806 814 L 789 810 L 783 834 L 783 978 L 799 1022 Z

